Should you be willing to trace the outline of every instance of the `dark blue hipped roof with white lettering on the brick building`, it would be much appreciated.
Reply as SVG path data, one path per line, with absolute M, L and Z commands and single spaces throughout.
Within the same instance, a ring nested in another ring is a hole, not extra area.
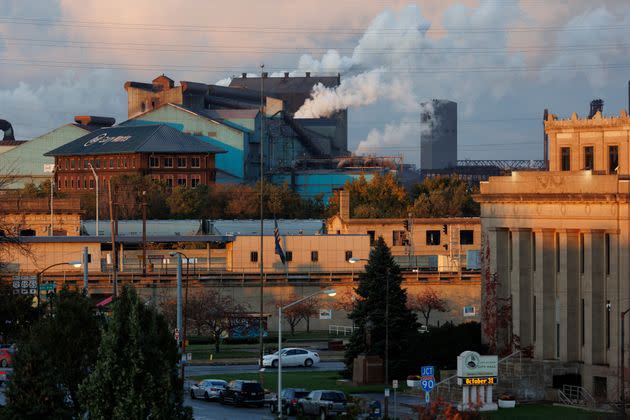
M 117 153 L 226 153 L 166 124 L 118 126 L 93 131 L 45 153 L 46 156 Z

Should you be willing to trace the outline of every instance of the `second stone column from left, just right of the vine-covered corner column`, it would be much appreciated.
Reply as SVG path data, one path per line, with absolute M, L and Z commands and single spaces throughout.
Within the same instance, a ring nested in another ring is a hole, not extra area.
M 532 231 L 512 229 L 512 325 L 521 347 L 532 344 Z

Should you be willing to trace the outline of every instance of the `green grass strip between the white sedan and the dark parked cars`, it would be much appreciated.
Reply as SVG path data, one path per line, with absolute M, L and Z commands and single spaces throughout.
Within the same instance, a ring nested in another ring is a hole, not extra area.
M 194 376 L 192 379 L 200 381 L 210 378 L 208 375 Z M 234 379 L 259 380 L 258 373 L 239 373 L 235 375 L 212 375 L 213 379 L 224 379 L 231 381 Z M 299 371 L 283 371 L 282 372 L 282 388 L 306 388 L 313 389 L 338 389 L 346 393 L 355 392 L 383 392 L 383 385 L 362 385 L 353 386 L 339 385 L 337 379 L 341 379 L 339 372 L 299 372 Z M 265 388 L 271 392 L 278 389 L 278 375 L 273 369 L 268 369 L 264 373 Z

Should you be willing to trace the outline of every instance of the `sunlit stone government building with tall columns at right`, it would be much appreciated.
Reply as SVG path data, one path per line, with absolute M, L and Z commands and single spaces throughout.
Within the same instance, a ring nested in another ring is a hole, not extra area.
M 630 308 L 630 118 L 549 115 L 545 133 L 549 171 L 491 177 L 476 197 L 485 270 L 498 275 L 497 297 L 512 306 L 499 344 L 514 350 L 514 334 L 550 368 L 548 379 L 579 373 L 595 398 L 617 400 L 628 366 L 620 316 Z M 497 304 L 483 286 L 482 300 Z M 628 323 L 625 337 L 628 347 Z

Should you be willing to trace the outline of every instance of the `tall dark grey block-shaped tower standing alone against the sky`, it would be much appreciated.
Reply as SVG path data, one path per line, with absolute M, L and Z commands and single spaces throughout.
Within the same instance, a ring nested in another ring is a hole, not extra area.
M 433 99 L 421 104 L 420 167 L 457 166 L 457 103 Z

